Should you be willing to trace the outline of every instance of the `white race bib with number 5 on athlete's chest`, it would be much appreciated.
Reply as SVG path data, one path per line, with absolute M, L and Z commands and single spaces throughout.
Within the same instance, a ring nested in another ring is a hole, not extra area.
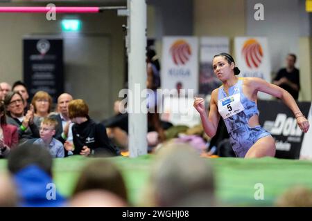
M 245 108 L 241 104 L 240 93 L 218 100 L 218 111 L 223 119 L 227 119 L 244 110 Z

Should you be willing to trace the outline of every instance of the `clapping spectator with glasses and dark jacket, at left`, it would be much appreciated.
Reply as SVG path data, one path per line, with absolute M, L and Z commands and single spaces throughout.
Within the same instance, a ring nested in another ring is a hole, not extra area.
M 24 115 L 24 99 L 17 91 L 11 91 L 4 99 L 7 112 L 7 123 L 17 126 L 19 143 L 28 139 L 39 137 L 39 130 L 33 123 L 33 110 L 28 110 Z

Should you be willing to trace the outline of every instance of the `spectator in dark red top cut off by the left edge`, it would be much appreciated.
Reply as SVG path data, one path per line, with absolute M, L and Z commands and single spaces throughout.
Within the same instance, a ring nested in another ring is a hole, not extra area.
M 0 158 L 6 157 L 19 142 L 17 127 L 6 124 L 4 111 L 4 104 L 0 101 Z

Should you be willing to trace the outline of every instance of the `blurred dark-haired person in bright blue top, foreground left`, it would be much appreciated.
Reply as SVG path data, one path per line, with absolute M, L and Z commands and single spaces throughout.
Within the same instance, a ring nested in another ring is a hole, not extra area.
M 52 156 L 46 148 L 24 144 L 12 150 L 8 171 L 17 186 L 19 206 L 64 206 L 52 179 Z

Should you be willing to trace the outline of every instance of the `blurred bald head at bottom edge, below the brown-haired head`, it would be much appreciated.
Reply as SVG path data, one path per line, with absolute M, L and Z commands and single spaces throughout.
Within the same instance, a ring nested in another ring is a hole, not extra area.
M 71 198 L 70 207 L 125 207 L 127 203 L 118 195 L 101 189 L 77 193 Z

